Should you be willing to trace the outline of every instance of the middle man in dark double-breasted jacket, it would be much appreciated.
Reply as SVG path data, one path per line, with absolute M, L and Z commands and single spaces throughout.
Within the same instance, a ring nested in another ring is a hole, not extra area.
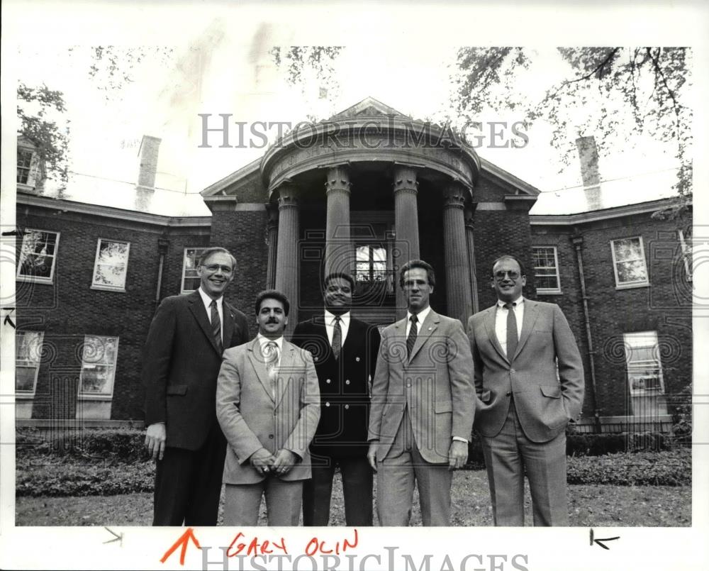
M 350 316 L 354 279 L 325 277 L 324 315 L 298 323 L 293 342 L 311 350 L 320 384 L 320 423 L 311 444 L 313 476 L 303 487 L 303 525 L 327 526 L 335 466 L 340 466 L 348 526 L 372 525 L 372 468 L 367 462 L 369 380 L 379 330 Z

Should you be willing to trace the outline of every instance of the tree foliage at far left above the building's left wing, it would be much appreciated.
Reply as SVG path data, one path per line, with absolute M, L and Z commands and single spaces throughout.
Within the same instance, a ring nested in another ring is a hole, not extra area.
M 64 94 L 46 85 L 17 88 L 18 135 L 23 135 L 36 147 L 43 169 L 40 179 L 49 176 L 65 187 L 69 179 L 69 121 L 65 113 Z M 57 124 L 57 121 L 62 123 Z M 41 182 L 38 184 L 41 187 Z

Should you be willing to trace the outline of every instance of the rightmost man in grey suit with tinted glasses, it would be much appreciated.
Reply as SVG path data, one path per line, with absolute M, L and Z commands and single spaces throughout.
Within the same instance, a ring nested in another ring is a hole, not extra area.
M 498 257 L 492 280 L 498 303 L 469 318 L 468 336 L 495 525 L 525 524 L 526 471 L 535 525 L 566 526 L 564 429 L 584 401 L 581 355 L 559 306 L 523 298 L 519 260 Z

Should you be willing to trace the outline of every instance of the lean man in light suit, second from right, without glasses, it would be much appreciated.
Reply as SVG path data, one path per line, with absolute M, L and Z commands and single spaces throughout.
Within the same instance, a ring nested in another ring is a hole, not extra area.
M 428 263 L 407 262 L 399 284 L 407 316 L 382 332 L 372 383 L 377 514 L 383 526 L 407 526 L 416 481 L 423 525 L 448 526 L 451 470 L 468 458 L 475 411 L 470 345 L 460 321 L 430 308 Z

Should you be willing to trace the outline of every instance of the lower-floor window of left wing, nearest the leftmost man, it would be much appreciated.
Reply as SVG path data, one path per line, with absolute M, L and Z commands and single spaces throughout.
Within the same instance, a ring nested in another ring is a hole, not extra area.
M 84 337 L 79 398 L 111 399 L 117 354 L 118 337 Z

